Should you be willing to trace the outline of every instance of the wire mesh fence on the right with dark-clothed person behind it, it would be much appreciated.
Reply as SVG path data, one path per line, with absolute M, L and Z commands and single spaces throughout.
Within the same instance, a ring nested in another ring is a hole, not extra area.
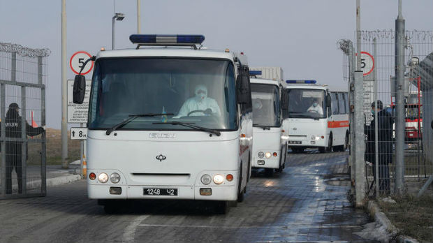
M 405 190 L 417 193 L 433 173 L 433 33 L 406 31 L 404 87 L 397 89 L 395 31 L 362 31 L 361 36 L 365 193 L 383 196 L 394 191 L 396 90 L 404 92 Z M 339 47 L 344 51 L 344 78 L 349 81 L 353 78 L 355 68 L 350 67 L 355 66 L 356 54 L 348 40 L 340 41 Z

